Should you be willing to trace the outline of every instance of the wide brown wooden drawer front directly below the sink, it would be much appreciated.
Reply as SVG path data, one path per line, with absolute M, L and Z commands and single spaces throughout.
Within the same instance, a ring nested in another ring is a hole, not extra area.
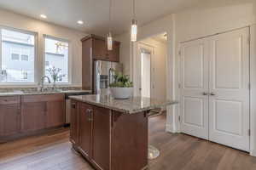
M 47 102 L 47 101 L 64 101 L 64 94 L 46 94 L 46 95 L 28 95 L 22 96 L 23 103 Z

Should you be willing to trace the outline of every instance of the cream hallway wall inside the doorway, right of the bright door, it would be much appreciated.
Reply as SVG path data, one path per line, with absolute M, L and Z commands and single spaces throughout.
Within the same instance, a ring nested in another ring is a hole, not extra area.
M 154 55 L 151 57 L 151 96 L 156 99 L 166 99 L 167 45 L 152 38 L 142 42 L 154 48 Z

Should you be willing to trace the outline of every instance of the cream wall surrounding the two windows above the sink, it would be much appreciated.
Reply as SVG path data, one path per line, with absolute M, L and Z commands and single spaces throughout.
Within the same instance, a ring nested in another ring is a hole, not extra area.
M 0 9 L 0 16 L 0 26 L 9 26 L 38 33 L 38 61 L 36 65 L 38 77 L 41 77 L 43 74 L 43 35 L 46 34 L 52 37 L 67 39 L 70 42 L 70 57 L 72 58 L 72 83 L 74 86 L 81 86 L 82 43 L 80 42 L 80 39 L 86 36 L 86 33 L 62 26 L 55 26 L 41 20 L 34 20 L 3 9 Z

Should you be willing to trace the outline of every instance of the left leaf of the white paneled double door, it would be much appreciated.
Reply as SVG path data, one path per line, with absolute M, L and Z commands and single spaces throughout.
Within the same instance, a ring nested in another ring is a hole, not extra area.
M 181 131 L 208 139 L 208 43 L 184 42 L 180 49 Z

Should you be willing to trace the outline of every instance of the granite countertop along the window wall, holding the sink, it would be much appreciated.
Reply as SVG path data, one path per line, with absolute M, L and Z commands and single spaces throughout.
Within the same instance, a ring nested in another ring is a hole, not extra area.
M 0 92 L 0 97 L 4 96 L 17 96 L 17 95 L 44 95 L 44 94 L 79 94 L 79 93 L 88 93 L 90 94 L 90 90 L 55 90 L 55 91 L 13 91 L 13 92 Z

